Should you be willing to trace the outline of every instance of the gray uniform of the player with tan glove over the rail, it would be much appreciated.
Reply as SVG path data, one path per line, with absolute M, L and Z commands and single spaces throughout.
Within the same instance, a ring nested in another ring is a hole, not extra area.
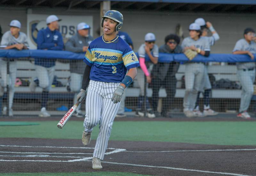
M 181 47 L 194 45 L 203 51 L 210 51 L 210 45 L 206 38 L 200 37 L 194 40 L 190 37 L 182 41 Z M 185 64 L 185 95 L 183 99 L 184 111 L 193 110 L 196 103 L 197 92 L 199 91 L 204 76 L 204 63 L 189 61 Z

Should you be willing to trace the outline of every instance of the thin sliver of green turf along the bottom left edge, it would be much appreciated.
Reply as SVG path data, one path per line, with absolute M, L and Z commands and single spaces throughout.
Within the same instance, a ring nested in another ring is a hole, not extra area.
M 149 176 L 124 172 L 0 173 L 0 176 Z

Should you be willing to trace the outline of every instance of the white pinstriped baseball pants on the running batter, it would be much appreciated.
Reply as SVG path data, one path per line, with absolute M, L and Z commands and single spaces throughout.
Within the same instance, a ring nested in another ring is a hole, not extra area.
M 111 101 L 113 93 L 119 84 L 91 80 L 87 90 L 84 131 L 92 132 L 93 127 L 99 123 L 100 132 L 93 157 L 100 158 L 101 160 L 104 158 L 113 121 L 120 106 L 119 102 L 114 104 Z

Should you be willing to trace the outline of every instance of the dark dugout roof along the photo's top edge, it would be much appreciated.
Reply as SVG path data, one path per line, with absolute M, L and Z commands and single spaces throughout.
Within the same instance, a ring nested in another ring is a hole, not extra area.
M 102 1 L 86 0 L 0 0 L 1 6 L 62 7 L 68 9 L 100 9 Z M 186 11 L 256 13 L 256 0 L 121 0 L 111 1 L 111 9 L 143 11 Z

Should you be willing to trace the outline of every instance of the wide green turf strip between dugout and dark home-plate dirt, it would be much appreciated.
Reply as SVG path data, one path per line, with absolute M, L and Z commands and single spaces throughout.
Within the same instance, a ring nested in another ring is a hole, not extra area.
M 63 129 L 57 121 L 35 126 L 1 126 L 1 137 L 81 139 L 83 121 L 69 121 Z M 92 133 L 96 139 L 98 127 Z M 182 142 L 194 144 L 256 145 L 256 122 L 114 122 L 110 140 Z

